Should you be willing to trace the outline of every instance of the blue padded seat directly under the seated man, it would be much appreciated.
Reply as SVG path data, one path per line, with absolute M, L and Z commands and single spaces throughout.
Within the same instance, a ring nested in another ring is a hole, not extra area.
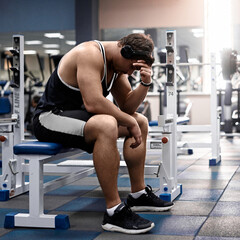
M 63 148 L 60 143 L 29 141 L 13 147 L 13 152 L 19 154 L 55 155 Z

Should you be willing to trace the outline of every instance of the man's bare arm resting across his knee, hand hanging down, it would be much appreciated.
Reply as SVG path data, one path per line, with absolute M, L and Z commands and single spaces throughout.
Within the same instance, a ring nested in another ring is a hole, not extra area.
M 84 60 L 81 58 L 77 60 L 77 81 L 85 108 L 91 113 L 113 116 L 119 125 L 127 127 L 130 135 L 136 141 L 132 147 L 137 147 L 141 144 L 142 137 L 136 119 L 121 111 L 102 94 L 101 73 L 103 63 L 101 64 L 102 56 L 100 55 L 100 57 L 98 59 L 96 53 L 88 52 L 87 55 L 85 54 Z

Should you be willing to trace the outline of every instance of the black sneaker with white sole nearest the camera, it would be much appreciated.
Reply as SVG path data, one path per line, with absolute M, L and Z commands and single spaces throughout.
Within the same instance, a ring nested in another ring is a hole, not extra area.
M 112 216 L 109 216 L 106 211 L 102 224 L 104 230 L 128 234 L 145 233 L 154 226 L 153 222 L 132 212 L 129 206 L 123 203 L 117 207 Z

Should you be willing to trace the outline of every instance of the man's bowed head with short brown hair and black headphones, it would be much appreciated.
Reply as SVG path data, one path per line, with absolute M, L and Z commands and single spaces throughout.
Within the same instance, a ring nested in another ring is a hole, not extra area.
M 121 54 L 126 59 L 144 60 L 149 66 L 154 62 L 152 56 L 154 43 L 150 35 L 129 34 L 118 40 L 118 46 L 122 47 Z

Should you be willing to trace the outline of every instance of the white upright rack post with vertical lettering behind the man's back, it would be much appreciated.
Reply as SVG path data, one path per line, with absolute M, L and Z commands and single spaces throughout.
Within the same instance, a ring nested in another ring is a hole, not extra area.
M 13 154 L 14 144 L 24 139 L 24 91 L 20 84 L 24 85 L 23 69 L 23 37 L 13 36 L 13 80 L 10 86 L 13 88 L 13 111 L 11 118 L 3 118 L 0 121 L 0 135 L 2 141 L 2 175 L 0 176 L 0 200 L 8 200 L 9 197 L 23 192 L 22 175 L 17 174 L 21 165 Z

